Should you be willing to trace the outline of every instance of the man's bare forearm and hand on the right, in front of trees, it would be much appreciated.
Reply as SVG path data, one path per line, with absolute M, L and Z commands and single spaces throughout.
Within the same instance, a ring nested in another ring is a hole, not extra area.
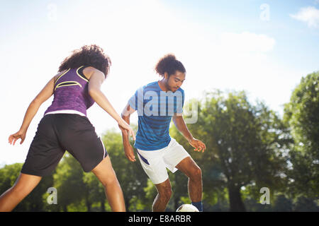
M 205 151 L 205 143 L 197 140 L 191 135 L 191 132 L 187 128 L 184 118 L 181 115 L 174 115 L 173 122 L 177 129 L 181 132 L 181 134 L 183 134 L 184 138 L 186 138 L 186 140 L 189 141 L 189 144 L 195 148 L 195 151 Z

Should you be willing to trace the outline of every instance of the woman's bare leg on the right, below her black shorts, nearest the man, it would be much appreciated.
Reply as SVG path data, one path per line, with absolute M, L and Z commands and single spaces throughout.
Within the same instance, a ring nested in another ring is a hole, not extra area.
M 107 155 L 99 165 L 92 169 L 92 172 L 105 187 L 106 198 L 108 198 L 111 210 L 114 212 L 125 212 L 123 192 L 111 165 L 110 157 Z

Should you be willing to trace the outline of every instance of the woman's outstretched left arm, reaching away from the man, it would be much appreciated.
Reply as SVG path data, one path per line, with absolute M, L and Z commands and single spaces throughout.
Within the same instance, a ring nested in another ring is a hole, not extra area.
M 59 74 L 60 73 L 58 73 L 56 76 L 59 76 Z M 32 100 L 28 109 L 26 110 L 26 114 L 24 115 L 21 128 L 18 132 L 9 136 L 10 144 L 13 143 L 14 145 L 18 139 L 21 139 L 20 144 L 23 143 L 23 141 L 26 138 L 26 132 L 28 131 L 30 122 L 32 121 L 35 114 L 38 112 L 39 107 L 43 104 L 43 102 L 45 102 L 45 100 L 49 99 L 53 94 L 56 76 L 51 78 L 47 85 L 45 85 L 43 90 L 41 90 L 40 93 Z

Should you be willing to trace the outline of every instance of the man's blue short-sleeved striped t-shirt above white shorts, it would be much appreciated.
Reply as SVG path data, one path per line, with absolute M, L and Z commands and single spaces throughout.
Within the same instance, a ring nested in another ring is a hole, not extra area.
M 138 132 L 134 147 L 140 150 L 158 150 L 171 141 L 169 124 L 174 114 L 181 114 L 184 90 L 163 91 L 158 82 L 149 83 L 130 97 L 128 104 L 138 111 Z

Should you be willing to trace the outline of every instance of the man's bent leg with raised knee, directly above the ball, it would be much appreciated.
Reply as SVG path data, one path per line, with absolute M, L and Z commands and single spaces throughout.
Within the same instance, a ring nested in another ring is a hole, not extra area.
M 201 211 L 201 199 L 203 194 L 201 168 L 198 167 L 191 157 L 185 157 L 176 167 L 189 177 L 189 198 L 191 198 L 191 203 L 193 203 L 193 205 L 195 203 L 194 206 Z

